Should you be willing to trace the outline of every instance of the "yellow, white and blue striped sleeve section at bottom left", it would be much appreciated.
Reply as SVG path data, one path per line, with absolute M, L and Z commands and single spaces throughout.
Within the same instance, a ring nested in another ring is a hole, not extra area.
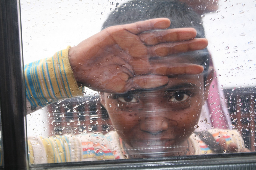
M 67 135 L 29 137 L 30 164 L 81 161 L 80 141 Z

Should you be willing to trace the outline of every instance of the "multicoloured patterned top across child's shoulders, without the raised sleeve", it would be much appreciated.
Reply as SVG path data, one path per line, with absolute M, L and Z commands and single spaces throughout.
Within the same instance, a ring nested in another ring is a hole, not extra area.
M 224 137 L 227 145 L 236 142 L 238 152 L 244 148 L 243 140 L 236 130 L 211 129 L 210 132 L 216 141 Z M 194 148 L 194 154 L 212 154 L 210 147 L 198 136 L 192 134 L 189 137 Z M 125 148 L 122 147 L 121 139 L 116 131 L 108 134 L 101 133 L 81 135 L 56 135 L 49 138 L 28 138 L 30 164 L 76 162 L 92 160 L 126 159 Z

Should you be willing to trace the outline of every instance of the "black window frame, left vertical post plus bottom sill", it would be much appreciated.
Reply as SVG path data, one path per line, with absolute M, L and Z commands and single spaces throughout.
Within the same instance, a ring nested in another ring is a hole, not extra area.
M 28 164 L 20 4 L 0 1 L 0 104 L 4 169 L 256 169 L 256 154 Z M 3 169 L 3 168 L 2 168 Z

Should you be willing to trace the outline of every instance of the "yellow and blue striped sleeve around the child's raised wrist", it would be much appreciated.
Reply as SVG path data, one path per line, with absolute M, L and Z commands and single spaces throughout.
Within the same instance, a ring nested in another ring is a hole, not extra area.
M 54 101 L 83 95 L 69 64 L 67 49 L 54 56 L 25 65 L 27 110 L 36 110 Z

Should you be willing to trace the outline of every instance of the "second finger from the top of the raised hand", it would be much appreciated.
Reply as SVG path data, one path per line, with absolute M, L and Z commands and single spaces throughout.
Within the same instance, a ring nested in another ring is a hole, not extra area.
M 156 45 L 162 42 L 176 42 L 193 39 L 196 37 L 194 28 L 179 28 L 157 30 L 138 35 L 141 40 L 147 45 Z

